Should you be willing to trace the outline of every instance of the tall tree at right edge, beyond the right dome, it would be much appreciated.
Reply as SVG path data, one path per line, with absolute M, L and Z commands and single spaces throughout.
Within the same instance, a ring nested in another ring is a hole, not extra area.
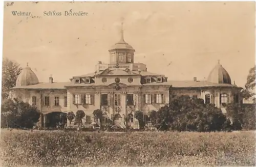
M 255 103 L 255 66 L 249 70 L 245 89 L 242 90 L 243 98 L 251 99 Z

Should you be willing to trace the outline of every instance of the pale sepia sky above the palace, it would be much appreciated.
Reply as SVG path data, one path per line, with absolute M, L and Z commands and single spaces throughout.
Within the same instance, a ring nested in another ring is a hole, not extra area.
M 71 9 L 88 16 L 63 15 Z M 54 10 L 62 16 L 44 16 Z M 28 62 L 40 82 L 50 74 L 54 81 L 69 81 L 94 72 L 98 61 L 109 63 L 121 20 L 135 63 L 169 80 L 203 80 L 220 60 L 232 82 L 243 87 L 255 65 L 254 2 L 5 3 L 3 56 L 22 67 Z

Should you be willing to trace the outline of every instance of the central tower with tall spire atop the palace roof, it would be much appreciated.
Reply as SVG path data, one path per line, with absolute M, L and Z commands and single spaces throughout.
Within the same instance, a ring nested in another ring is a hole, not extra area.
M 110 52 L 110 64 L 124 64 L 134 63 L 135 50 L 131 45 L 124 41 L 123 38 L 123 22 L 121 24 L 121 38 L 120 41 L 111 47 Z

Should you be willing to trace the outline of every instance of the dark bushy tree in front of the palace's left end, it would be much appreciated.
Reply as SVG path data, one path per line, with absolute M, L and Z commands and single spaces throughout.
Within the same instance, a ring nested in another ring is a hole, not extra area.
M 5 99 L 1 106 L 1 117 L 6 118 L 7 127 L 32 128 L 39 121 L 40 113 L 35 106 L 29 103 L 18 99 Z

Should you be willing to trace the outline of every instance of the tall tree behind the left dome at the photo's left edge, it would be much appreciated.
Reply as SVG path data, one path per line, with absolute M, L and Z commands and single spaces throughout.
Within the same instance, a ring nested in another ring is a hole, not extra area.
M 16 80 L 22 68 L 19 67 L 19 64 L 11 61 L 7 58 L 3 58 L 3 67 L 2 67 L 2 99 L 8 97 L 6 91 L 10 88 L 15 87 Z

